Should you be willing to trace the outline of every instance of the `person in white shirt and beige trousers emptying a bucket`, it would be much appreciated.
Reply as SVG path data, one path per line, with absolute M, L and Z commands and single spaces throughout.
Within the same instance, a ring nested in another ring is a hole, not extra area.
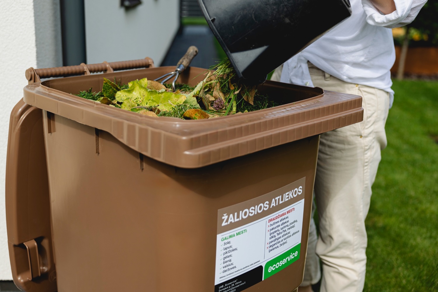
M 321 134 L 311 221 L 299 292 L 360 292 L 367 257 L 365 218 L 394 91 L 391 28 L 414 20 L 427 0 L 350 0 L 352 16 L 279 67 L 272 80 L 363 97 L 364 120 Z M 322 263 L 322 278 L 319 260 Z

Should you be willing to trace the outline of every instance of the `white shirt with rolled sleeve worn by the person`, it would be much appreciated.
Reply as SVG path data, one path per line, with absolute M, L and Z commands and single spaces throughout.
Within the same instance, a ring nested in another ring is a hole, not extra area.
M 382 14 L 370 0 L 350 0 L 353 14 L 283 65 L 281 81 L 312 86 L 307 61 L 343 81 L 388 91 L 396 60 L 392 31 L 409 24 L 427 0 L 394 0 L 396 11 Z

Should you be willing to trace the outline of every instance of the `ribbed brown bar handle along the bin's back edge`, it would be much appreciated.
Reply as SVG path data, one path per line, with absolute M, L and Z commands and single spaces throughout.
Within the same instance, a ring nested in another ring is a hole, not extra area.
M 155 67 L 154 61 L 146 57 L 140 60 L 122 61 L 122 62 L 103 62 L 98 64 L 85 64 L 75 66 L 64 66 L 54 68 L 35 69 L 30 67 L 26 70 L 26 79 L 29 84 L 41 82 L 40 78 L 49 77 L 67 77 L 72 75 L 88 75 L 90 73 L 98 72 L 114 72 L 117 70 L 130 70 L 137 68 L 153 68 Z

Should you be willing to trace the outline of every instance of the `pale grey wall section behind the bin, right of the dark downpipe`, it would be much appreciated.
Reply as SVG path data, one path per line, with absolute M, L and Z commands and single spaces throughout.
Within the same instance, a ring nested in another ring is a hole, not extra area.
M 87 63 L 164 59 L 179 28 L 179 0 L 142 0 L 126 10 L 120 0 L 85 0 Z

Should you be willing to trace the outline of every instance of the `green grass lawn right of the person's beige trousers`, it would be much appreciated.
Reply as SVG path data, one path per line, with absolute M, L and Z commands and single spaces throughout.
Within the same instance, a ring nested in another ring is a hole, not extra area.
M 438 82 L 394 81 L 368 232 L 366 292 L 438 291 Z

